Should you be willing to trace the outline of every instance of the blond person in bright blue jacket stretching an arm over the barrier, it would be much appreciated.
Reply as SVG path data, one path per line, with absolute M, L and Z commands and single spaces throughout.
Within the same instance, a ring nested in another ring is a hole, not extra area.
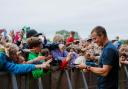
M 0 71 L 9 71 L 14 74 L 24 74 L 35 69 L 48 68 L 49 62 L 42 64 L 17 64 L 20 60 L 19 48 L 13 43 L 7 43 L 0 52 Z

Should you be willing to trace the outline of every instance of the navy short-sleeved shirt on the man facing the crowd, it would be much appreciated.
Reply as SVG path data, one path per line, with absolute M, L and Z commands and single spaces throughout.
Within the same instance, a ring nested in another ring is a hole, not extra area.
M 119 53 L 111 42 L 108 42 L 102 50 L 99 67 L 103 65 L 110 65 L 112 69 L 106 77 L 98 76 L 98 88 L 118 89 Z

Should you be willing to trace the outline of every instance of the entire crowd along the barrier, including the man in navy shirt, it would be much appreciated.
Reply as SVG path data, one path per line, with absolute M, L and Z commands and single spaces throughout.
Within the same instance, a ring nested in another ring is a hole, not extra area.
M 95 27 L 91 37 L 75 39 L 71 31 L 67 39 L 60 34 L 53 41 L 35 29 L 25 32 L 0 30 L 0 71 L 14 74 L 32 72 L 34 78 L 59 69 L 76 67 L 98 75 L 98 89 L 118 89 L 118 68 L 128 64 L 128 45 L 109 41 L 105 28 Z

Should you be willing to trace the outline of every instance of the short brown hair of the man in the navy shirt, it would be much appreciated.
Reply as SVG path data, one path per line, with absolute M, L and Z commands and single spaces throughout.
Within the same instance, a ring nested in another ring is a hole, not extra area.
M 103 34 L 104 36 L 107 37 L 107 32 L 106 32 L 105 28 L 102 27 L 102 26 L 96 26 L 96 27 L 92 30 L 91 34 L 92 34 L 93 32 L 96 32 L 97 36 L 101 36 L 101 35 Z

